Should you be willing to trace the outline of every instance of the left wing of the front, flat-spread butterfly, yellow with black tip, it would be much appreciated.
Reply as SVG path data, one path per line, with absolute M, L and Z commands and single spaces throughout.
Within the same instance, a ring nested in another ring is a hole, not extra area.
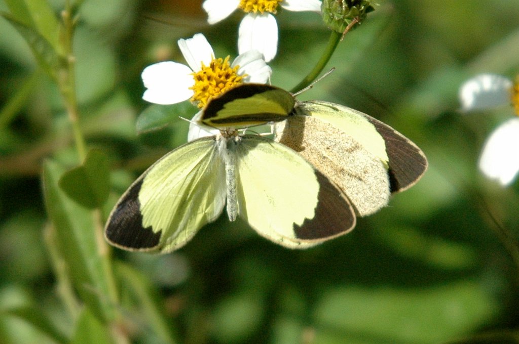
M 163 156 L 130 186 L 105 236 L 123 249 L 173 251 L 222 213 L 225 198 L 222 154 L 214 137 L 201 138 Z

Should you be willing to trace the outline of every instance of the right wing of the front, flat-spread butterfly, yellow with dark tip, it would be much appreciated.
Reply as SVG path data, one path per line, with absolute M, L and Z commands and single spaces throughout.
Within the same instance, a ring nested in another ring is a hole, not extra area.
M 245 135 L 228 150 L 236 154 L 239 215 L 260 235 L 307 248 L 354 227 L 344 193 L 292 149 Z

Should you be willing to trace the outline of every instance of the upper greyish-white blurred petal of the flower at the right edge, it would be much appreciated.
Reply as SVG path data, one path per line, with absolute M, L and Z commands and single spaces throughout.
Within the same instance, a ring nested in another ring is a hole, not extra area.
M 510 103 L 512 81 L 496 74 L 480 74 L 463 83 L 459 90 L 464 111 L 489 109 Z

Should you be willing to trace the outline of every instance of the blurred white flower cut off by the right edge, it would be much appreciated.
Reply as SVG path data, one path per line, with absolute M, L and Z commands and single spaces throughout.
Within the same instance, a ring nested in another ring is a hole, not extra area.
M 462 110 L 482 110 L 504 104 L 514 106 L 519 116 L 519 84 L 495 74 L 478 75 L 461 85 Z M 483 174 L 503 187 L 519 174 L 519 118 L 499 125 L 487 138 L 479 160 Z

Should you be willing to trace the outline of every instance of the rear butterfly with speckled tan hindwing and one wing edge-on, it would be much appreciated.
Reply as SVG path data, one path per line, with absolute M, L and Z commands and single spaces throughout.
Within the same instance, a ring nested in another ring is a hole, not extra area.
M 335 182 L 356 213 L 386 206 L 427 170 L 411 140 L 358 110 L 324 101 L 299 102 L 266 84 L 242 84 L 208 104 L 200 122 L 213 127 L 274 124 L 277 142 L 292 148 Z

